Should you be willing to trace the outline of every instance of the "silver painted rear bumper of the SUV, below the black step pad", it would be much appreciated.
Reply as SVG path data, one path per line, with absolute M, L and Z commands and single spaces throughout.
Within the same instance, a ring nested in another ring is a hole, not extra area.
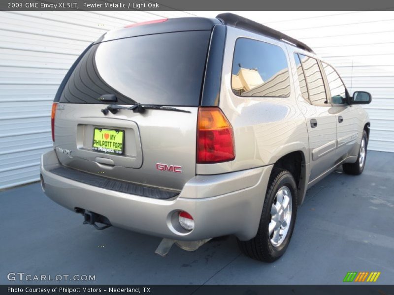
M 199 240 L 234 234 L 254 237 L 259 227 L 265 190 L 272 166 L 221 175 L 196 176 L 169 200 L 152 199 L 103 189 L 51 173 L 59 167 L 56 153 L 41 157 L 45 194 L 56 203 L 99 213 L 112 225 L 177 240 Z M 195 220 L 191 232 L 174 227 L 175 212 L 185 210 Z

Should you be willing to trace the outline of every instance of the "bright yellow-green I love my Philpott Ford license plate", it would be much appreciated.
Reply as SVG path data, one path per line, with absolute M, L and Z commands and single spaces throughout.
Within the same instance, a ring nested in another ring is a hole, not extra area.
M 125 130 L 95 128 L 92 149 L 105 152 L 123 154 Z

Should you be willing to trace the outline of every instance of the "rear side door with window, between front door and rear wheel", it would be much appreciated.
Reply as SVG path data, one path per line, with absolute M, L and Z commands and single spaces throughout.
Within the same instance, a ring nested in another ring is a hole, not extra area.
M 309 137 L 310 177 L 313 181 L 335 165 L 336 116 L 329 104 L 323 76 L 317 59 L 294 54 L 301 95 L 306 107 Z

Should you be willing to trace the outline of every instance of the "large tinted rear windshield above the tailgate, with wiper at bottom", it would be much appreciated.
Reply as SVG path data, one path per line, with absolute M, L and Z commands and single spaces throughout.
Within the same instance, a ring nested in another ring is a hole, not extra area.
M 198 106 L 210 31 L 185 31 L 118 39 L 93 45 L 76 66 L 63 103 Z

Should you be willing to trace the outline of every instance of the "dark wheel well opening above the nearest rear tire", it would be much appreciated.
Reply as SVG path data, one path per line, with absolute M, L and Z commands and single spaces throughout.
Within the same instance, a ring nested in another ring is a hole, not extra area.
M 302 201 L 305 187 L 305 156 L 302 151 L 294 151 L 281 157 L 274 164 L 274 168 L 289 170 L 296 180 L 298 194 L 298 205 Z

